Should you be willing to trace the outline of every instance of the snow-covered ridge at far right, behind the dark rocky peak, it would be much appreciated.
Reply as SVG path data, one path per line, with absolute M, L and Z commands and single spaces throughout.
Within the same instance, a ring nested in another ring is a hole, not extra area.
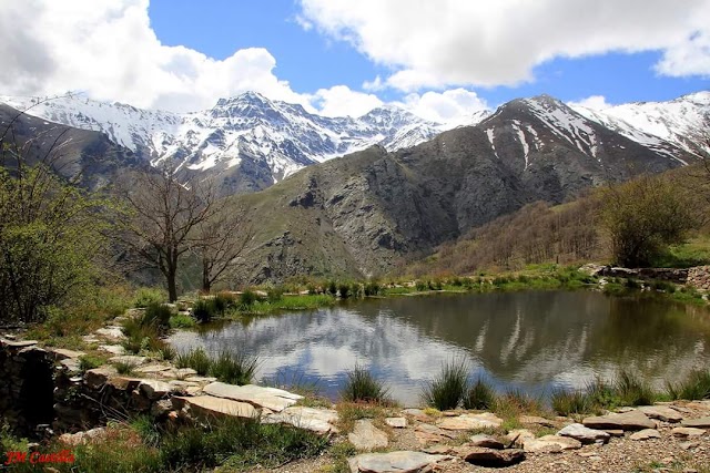
M 710 91 L 669 102 L 639 102 L 592 110 L 572 105 L 587 119 L 661 153 L 674 146 L 689 153 L 710 153 Z

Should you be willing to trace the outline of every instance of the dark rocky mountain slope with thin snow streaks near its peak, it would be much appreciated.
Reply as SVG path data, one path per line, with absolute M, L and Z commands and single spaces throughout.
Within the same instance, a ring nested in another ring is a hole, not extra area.
M 476 126 L 397 152 L 371 147 L 243 196 L 257 234 L 241 274 L 261 281 L 387 271 L 527 203 L 561 203 L 693 160 L 671 143 L 645 146 L 550 96 L 516 100 Z

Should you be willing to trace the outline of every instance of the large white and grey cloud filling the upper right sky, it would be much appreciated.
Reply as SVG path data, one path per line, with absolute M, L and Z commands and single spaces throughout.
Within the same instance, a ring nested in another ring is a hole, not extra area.
M 710 0 L 301 0 L 301 18 L 389 66 L 390 86 L 515 85 L 554 58 L 662 51 L 657 71 L 710 73 Z M 680 65 L 680 68 L 676 68 Z

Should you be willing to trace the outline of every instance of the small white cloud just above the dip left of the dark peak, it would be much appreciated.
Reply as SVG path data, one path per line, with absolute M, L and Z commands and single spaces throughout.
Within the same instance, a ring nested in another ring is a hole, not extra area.
M 445 92 L 412 93 L 403 106 L 415 115 L 437 123 L 465 122 L 475 112 L 488 110 L 488 104 L 476 92 L 453 89 Z

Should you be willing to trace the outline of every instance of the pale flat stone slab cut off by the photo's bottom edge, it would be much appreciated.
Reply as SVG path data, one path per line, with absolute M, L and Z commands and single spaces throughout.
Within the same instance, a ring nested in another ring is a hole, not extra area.
M 364 453 L 347 461 L 352 473 L 429 473 L 436 464 L 448 460 L 446 455 L 400 451 L 389 453 Z

